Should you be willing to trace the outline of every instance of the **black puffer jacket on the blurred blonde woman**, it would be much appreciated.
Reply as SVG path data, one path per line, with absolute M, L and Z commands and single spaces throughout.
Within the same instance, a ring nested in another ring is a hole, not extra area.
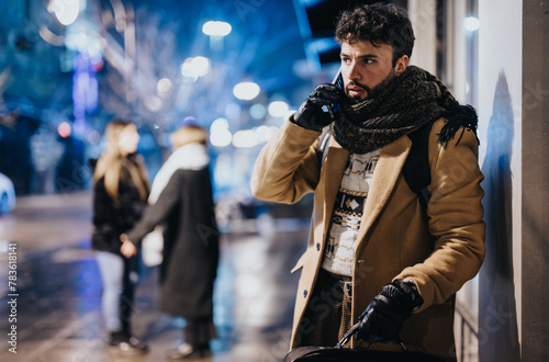
M 139 220 L 147 206 L 139 197 L 135 184 L 124 182 L 131 180 L 130 172 L 123 168 L 119 183 L 119 200 L 113 200 L 104 186 L 104 178 L 93 186 L 93 231 L 91 247 L 94 250 L 110 251 L 120 254 L 120 235 L 130 230 Z

